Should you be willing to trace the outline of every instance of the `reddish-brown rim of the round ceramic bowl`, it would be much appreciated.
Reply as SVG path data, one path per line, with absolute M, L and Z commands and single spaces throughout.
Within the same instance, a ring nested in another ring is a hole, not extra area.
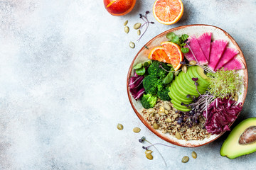
M 148 42 L 146 42 L 146 44 L 139 50 L 139 52 L 137 52 L 137 55 L 135 55 L 134 57 L 134 60 L 132 60 L 132 63 L 129 67 L 129 71 L 128 71 L 128 74 L 127 74 L 127 94 L 128 94 L 128 98 L 129 98 L 129 102 L 131 103 L 131 106 L 134 110 L 134 112 L 136 113 L 136 115 L 138 116 L 139 120 L 142 121 L 142 123 L 146 126 L 146 128 L 148 128 L 149 130 L 151 130 L 151 132 L 153 132 L 155 135 L 157 135 L 158 137 L 160 137 L 162 140 L 165 140 L 166 142 L 169 142 L 171 144 L 174 144 L 174 145 L 177 145 L 177 146 L 180 146 L 180 147 L 201 147 L 203 145 L 207 145 L 209 144 L 210 142 L 213 142 L 214 140 L 217 140 L 221 135 L 223 135 L 226 131 L 224 132 L 221 132 L 219 135 L 217 135 L 215 138 L 213 138 L 212 140 L 206 142 L 206 143 L 203 143 L 203 144 L 200 144 L 200 145 L 188 145 L 188 144 L 185 144 L 185 145 L 182 145 L 178 142 L 175 142 L 175 141 L 172 141 L 170 140 L 168 137 L 164 136 L 163 133 L 160 133 L 156 130 L 154 130 L 154 128 L 151 127 L 151 125 L 149 125 L 149 123 L 146 122 L 146 120 L 143 118 L 143 116 L 137 111 L 137 109 L 134 107 L 134 104 L 132 103 L 132 97 L 131 95 L 129 95 L 129 79 L 131 77 L 131 74 L 132 74 L 132 66 L 134 65 L 134 61 L 137 59 L 138 55 L 140 54 L 140 52 L 142 52 L 142 50 L 144 49 L 145 46 L 149 45 L 152 41 L 156 40 L 157 38 L 161 37 L 161 35 L 164 35 L 166 33 L 169 33 L 169 32 L 172 32 L 172 31 L 175 31 L 175 30 L 180 30 L 180 29 L 183 29 L 183 28 L 187 28 L 187 27 L 191 27 L 191 26 L 209 26 L 209 27 L 213 27 L 213 28 L 217 28 L 219 30 L 222 30 L 223 33 L 225 33 L 226 36 L 228 36 L 228 38 L 230 39 L 231 42 L 233 42 L 233 45 L 235 45 L 235 47 L 237 48 L 237 50 L 239 51 L 239 54 L 240 54 L 240 57 L 241 57 L 241 60 L 243 62 L 243 64 L 245 64 L 245 69 L 244 69 L 244 82 L 245 82 L 245 90 L 244 90 L 244 95 L 243 95 L 243 99 L 242 99 L 242 106 L 244 105 L 245 103 L 245 98 L 246 98 L 246 95 L 247 95 L 247 89 L 248 89 L 248 70 L 247 70 L 247 64 L 245 62 L 245 57 L 242 53 L 242 50 L 240 49 L 238 43 L 234 40 L 234 38 L 229 35 L 225 30 L 221 29 L 221 28 L 218 28 L 217 26 L 211 26 L 211 25 L 207 25 L 207 24 L 191 24 L 191 25 L 185 25 L 185 26 L 178 26 L 176 28 L 171 28 L 169 30 L 166 30 L 164 31 L 163 33 L 160 33 L 159 35 L 156 35 L 154 38 L 152 38 L 151 40 L 149 40 Z M 238 113 L 239 115 L 240 113 Z M 235 121 L 233 121 L 234 123 Z M 233 123 L 230 123 L 229 127 L 231 125 L 233 125 Z

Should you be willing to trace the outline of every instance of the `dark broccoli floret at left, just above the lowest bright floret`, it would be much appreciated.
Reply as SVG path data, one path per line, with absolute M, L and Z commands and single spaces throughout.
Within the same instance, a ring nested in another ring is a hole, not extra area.
M 148 75 L 143 79 L 142 84 L 146 91 L 146 94 L 156 94 L 157 93 L 157 81 L 158 81 L 158 79 L 151 75 Z

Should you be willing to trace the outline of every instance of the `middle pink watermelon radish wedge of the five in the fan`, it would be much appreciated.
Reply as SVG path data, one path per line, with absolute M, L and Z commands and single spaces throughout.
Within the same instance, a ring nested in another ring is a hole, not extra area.
M 210 44 L 210 58 L 208 60 L 210 69 L 215 70 L 215 67 L 218 65 L 220 57 L 225 51 L 225 47 L 228 45 L 226 40 L 214 40 Z

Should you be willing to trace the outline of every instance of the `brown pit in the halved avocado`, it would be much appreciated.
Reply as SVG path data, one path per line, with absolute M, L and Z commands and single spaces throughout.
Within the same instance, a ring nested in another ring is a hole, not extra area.
M 249 128 L 245 129 L 240 135 L 238 143 L 240 145 L 250 145 L 256 142 L 256 126 L 250 126 Z

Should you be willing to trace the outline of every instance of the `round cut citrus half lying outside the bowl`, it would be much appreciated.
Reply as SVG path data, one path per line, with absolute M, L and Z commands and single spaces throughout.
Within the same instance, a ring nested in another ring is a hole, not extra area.
M 156 0 L 153 6 L 153 14 L 159 23 L 174 24 L 183 15 L 183 3 L 181 0 Z

